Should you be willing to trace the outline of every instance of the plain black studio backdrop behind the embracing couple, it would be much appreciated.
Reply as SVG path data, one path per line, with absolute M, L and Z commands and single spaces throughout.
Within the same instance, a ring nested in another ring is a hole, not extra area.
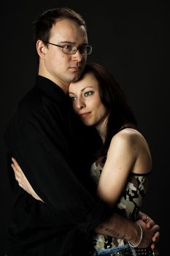
M 4 255 L 4 235 L 12 208 L 4 129 L 19 99 L 34 85 L 37 69 L 31 23 L 36 15 L 53 7 L 71 7 L 85 18 L 93 45 L 88 60 L 104 65 L 115 75 L 134 109 L 153 161 L 144 212 L 161 225 L 161 256 L 169 252 L 168 2 L 36 0 L 5 1 L 1 5 L 0 255 Z

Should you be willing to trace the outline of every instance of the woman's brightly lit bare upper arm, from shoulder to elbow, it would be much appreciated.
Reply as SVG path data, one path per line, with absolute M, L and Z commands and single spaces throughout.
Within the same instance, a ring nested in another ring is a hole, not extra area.
M 138 134 L 121 131 L 112 138 L 107 153 L 107 161 L 98 181 L 98 195 L 113 206 L 120 197 L 128 175 L 134 170 L 139 156 Z

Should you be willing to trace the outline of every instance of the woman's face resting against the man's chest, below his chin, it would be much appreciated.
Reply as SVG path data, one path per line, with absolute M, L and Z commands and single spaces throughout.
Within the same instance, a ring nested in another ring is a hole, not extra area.
M 71 83 L 69 97 L 75 113 L 83 124 L 101 129 L 107 118 L 107 109 L 99 95 L 98 80 L 92 72 L 86 73 L 81 80 Z

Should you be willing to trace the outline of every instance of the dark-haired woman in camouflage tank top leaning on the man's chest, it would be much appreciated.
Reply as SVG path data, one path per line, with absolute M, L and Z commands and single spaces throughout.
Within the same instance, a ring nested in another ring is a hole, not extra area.
M 136 221 L 146 193 L 152 159 L 147 141 L 136 129 L 136 119 L 120 86 L 104 67 L 90 63 L 80 80 L 70 84 L 69 97 L 83 124 L 95 127 L 103 142 L 90 170 L 99 197 L 111 208 L 115 207 L 119 214 Z M 16 167 L 12 167 L 15 170 Z M 20 187 L 23 183 L 19 183 Z M 23 188 L 40 200 L 28 182 L 25 184 L 27 187 Z M 102 233 L 100 227 L 96 231 Z M 120 249 L 129 248 L 135 255 L 134 248 L 140 246 L 141 241 L 142 229 L 136 246 L 112 238 L 109 233 L 108 236 L 97 234 L 93 237 L 94 255 L 118 253 Z

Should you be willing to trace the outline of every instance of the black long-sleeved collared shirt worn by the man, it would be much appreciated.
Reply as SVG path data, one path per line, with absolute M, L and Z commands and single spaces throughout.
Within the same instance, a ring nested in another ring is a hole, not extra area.
M 109 214 L 88 176 L 97 143 L 92 133 L 80 124 L 61 88 L 38 76 L 20 101 L 5 139 L 9 155 L 45 203 L 21 189 L 10 170 L 14 203 L 8 256 L 61 256 L 72 250 L 83 255 L 89 250 L 93 228 Z

